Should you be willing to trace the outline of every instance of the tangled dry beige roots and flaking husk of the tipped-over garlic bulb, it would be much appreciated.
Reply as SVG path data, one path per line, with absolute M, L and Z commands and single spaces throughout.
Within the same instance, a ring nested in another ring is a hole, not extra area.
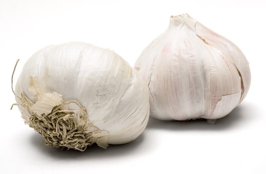
M 22 118 L 43 136 L 45 145 L 62 150 L 84 151 L 87 146 L 97 143 L 98 146 L 107 148 L 108 132 L 99 130 L 90 122 L 86 109 L 78 101 L 65 102 L 57 92 L 39 93 L 37 81 L 37 77 L 29 79 L 30 91 L 37 96 L 36 102 L 33 103 L 24 92 L 21 97 L 14 93 L 21 103 L 13 105 L 23 108 Z M 69 110 L 69 104 L 75 104 L 78 109 Z M 29 121 L 26 119 L 27 115 Z

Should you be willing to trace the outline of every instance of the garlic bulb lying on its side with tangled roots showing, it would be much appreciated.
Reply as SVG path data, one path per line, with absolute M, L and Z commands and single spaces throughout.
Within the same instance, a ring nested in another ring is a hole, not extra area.
M 148 88 L 137 71 L 113 51 L 87 43 L 36 52 L 14 93 L 25 123 L 54 147 L 128 143 L 149 116 Z

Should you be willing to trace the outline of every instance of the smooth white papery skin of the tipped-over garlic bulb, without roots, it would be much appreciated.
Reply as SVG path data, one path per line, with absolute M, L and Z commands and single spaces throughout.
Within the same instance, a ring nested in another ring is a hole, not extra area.
M 38 79 L 34 89 L 29 84 L 32 77 Z M 33 103 L 37 94 L 52 92 L 64 101 L 78 101 L 86 108 L 89 121 L 108 132 L 109 144 L 133 141 L 148 121 L 148 88 L 138 72 L 113 51 L 87 43 L 70 42 L 36 52 L 16 83 L 15 93 L 20 96 L 21 92 Z M 16 101 L 21 102 L 17 97 Z M 19 109 L 29 122 L 23 105 Z

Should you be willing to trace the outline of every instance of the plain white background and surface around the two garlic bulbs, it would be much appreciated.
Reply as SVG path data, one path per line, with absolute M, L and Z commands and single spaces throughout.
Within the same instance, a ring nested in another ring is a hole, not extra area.
M 266 2 L 264 0 L 0 0 L 0 173 L 266 174 Z M 250 62 L 248 96 L 216 124 L 150 119 L 132 143 L 86 152 L 44 146 L 23 124 L 10 88 L 40 48 L 84 41 L 113 49 L 131 65 L 163 32 L 170 15 L 189 13 L 233 41 Z

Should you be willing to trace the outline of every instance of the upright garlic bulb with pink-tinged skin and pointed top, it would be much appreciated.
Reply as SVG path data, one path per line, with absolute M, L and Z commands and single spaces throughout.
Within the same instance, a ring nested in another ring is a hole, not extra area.
M 245 98 L 251 82 L 240 49 L 188 14 L 170 17 L 135 69 L 148 83 L 150 115 L 162 120 L 221 118 Z

